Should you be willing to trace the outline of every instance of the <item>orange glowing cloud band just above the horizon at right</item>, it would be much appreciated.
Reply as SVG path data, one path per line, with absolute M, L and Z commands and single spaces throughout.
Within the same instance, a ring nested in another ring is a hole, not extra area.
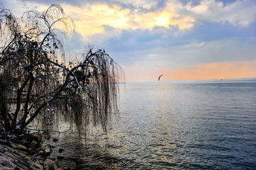
M 196 65 L 184 69 L 162 69 L 165 80 L 237 79 L 256 77 L 256 61 Z

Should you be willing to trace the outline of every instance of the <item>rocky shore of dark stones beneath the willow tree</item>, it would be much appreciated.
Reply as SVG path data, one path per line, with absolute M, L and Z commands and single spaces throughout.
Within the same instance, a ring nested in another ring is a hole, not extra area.
M 61 170 L 54 160 L 48 158 L 52 152 L 51 146 L 42 147 L 41 142 L 39 132 L 16 136 L 7 135 L 0 128 L 0 170 Z

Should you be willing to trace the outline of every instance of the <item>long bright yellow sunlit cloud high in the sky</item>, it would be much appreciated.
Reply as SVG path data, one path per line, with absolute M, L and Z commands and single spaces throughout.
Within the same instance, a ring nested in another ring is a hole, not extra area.
M 103 33 L 104 26 L 118 29 L 151 29 L 155 26 L 179 26 L 180 29 L 194 26 L 195 19 L 191 16 L 180 16 L 174 10 L 174 4 L 167 4 L 162 11 L 139 13 L 128 8 L 108 6 L 107 4 L 93 4 L 90 6 L 63 5 L 65 12 L 74 17 L 79 33 L 94 35 Z

